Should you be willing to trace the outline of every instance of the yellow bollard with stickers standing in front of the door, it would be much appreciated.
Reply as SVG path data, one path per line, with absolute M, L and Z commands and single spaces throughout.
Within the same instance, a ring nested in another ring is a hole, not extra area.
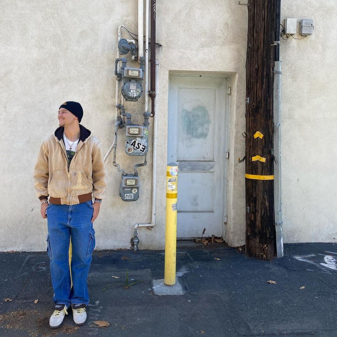
M 164 284 L 176 284 L 178 165 L 166 167 L 166 224 Z

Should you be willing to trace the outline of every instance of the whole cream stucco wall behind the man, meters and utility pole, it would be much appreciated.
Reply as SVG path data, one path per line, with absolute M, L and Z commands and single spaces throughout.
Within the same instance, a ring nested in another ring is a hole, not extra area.
M 333 22 L 337 18 L 332 1 L 325 8 L 314 1 L 299 3 L 283 0 L 282 18 L 313 17 L 315 31 L 304 40 L 282 40 L 281 44 L 284 241 L 333 241 L 337 236 Z M 101 141 L 104 154 L 109 149 L 115 116 L 117 30 L 123 24 L 137 33 L 137 8 L 125 0 L 6 1 L 1 19 L 4 202 L 0 250 L 44 250 L 47 221 L 40 216 L 32 178 L 39 145 L 57 127 L 59 105 L 75 100 L 84 108 L 82 124 Z M 244 164 L 238 164 L 237 158 L 244 155 L 246 34 L 247 7 L 237 1 L 157 3 L 157 41 L 162 44 L 156 57 L 160 83 L 157 221 L 152 231 L 139 229 L 141 249 L 164 247 L 170 70 L 231 74 L 226 241 L 233 246 L 244 243 Z M 125 31 L 123 37 L 128 38 Z M 144 97 L 127 107 L 143 112 L 143 104 Z M 135 159 L 123 153 L 123 140 L 121 136 L 117 160 L 132 170 Z M 112 166 L 112 155 L 106 160 L 108 188 L 94 223 L 97 249 L 129 247 L 134 224 L 150 222 L 151 157 L 152 150 L 148 166 L 139 170 L 141 197 L 134 203 L 121 201 L 120 174 Z

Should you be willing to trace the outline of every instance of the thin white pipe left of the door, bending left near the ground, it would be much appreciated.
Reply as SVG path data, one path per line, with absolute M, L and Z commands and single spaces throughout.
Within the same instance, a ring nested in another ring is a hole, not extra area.
M 156 61 L 156 91 L 158 92 L 158 61 Z M 133 233 L 133 247 L 137 251 L 139 245 L 139 238 L 137 233 L 138 227 L 154 227 L 156 224 L 156 189 L 157 189 L 157 111 L 158 111 L 158 97 L 155 98 L 154 116 L 153 116 L 153 153 L 152 153 L 152 201 L 151 201 L 151 223 L 136 223 Z

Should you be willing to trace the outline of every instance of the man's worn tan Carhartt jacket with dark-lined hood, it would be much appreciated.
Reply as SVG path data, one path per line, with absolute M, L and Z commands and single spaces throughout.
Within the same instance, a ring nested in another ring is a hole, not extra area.
M 68 172 L 63 132 L 64 128 L 59 127 L 41 145 L 34 169 L 37 197 L 60 198 L 62 205 L 79 204 L 78 196 L 88 193 L 102 199 L 106 184 L 99 141 L 80 125 L 80 141 Z

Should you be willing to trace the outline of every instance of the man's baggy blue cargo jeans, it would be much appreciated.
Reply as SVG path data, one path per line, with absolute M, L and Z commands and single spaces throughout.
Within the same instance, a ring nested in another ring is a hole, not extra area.
M 47 207 L 47 252 L 54 288 L 53 301 L 70 306 L 89 303 L 87 278 L 95 248 L 95 230 L 92 227 L 92 201 L 78 205 Z M 71 236 L 71 277 L 69 270 L 69 242 Z

